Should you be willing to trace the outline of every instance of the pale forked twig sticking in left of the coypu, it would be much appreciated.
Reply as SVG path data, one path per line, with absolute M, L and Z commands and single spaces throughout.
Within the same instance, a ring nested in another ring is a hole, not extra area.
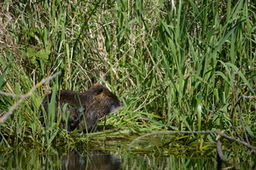
M 10 108 L 9 108 L 9 111 L 7 113 L 5 113 L 2 117 L 0 117 L 0 124 L 3 124 L 10 115 L 13 114 L 13 112 L 15 111 L 15 109 L 24 101 L 24 99 L 27 99 L 29 98 L 32 93 L 37 89 L 37 88 L 40 88 L 45 82 L 49 82 L 51 79 L 59 76 L 61 74 L 61 71 L 59 72 L 56 72 L 54 75 L 52 76 L 49 76 L 49 77 L 46 77 L 45 79 L 41 80 L 41 82 L 38 82 L 34 87 L 31 88 L 31 90 L 29 92 L 27 92 L 26 94 L 23 94 L 23 95 L 16 95 L 16 94 L 8 94 L 8 93 L 5 93 L 3 91 L 0 91 L 0 94 L 3 94 L 3 95 L 6 95 L 6 96 L 11 96 L 11 97 L 14 97 L 14 98 L 20 98 L 18 100 L 17 103 L 15 103 L 15 105 L 12 105 Z

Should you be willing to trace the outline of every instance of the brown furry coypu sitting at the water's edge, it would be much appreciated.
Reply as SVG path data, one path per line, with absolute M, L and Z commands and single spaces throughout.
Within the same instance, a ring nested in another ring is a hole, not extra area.
M 46 115 L 48 114 L 48 104 L 51 95 L 46 95 L 42 102 Z M 61 115 L 59 127 L 67 128 L 69 132 L 75 128 L 84 131 L 84 133 L 96 132 L 97 120 L 118 110 L 120 105 L 121 102 L 116 95 L 102 84 L 97 84 L 84 93 L 61 90 L 56 98 L 55 122 L 57 122 L 58 117 Z M 62 108 L 65 107 L 65 111 L 63 111 Z M 66 123 L 64 117 L 68 111 L 69 117 Z M 65 113 L 64 115 L 63 112 Z M 39 120 L 44 125 L 44 116 L 42 113 L 40 116 Z

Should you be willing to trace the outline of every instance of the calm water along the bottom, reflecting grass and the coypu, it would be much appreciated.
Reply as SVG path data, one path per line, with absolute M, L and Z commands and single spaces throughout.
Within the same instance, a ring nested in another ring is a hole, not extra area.
M 100 141 L 93 147 L 98 149 L 88 149 L 86 144 L 80 144 L 77 150 L 64 145 L 48 151 L 18 146 L 0 153 L 0 169 L 217 169 L 215 149 L 201 153 L 183 147 L 165 154 L 159 150 L 135 153 L 128 151 L 128 143 L 123 140 Z M 251 169 L 253 156 L 247 156 L 245 148 L 236 149 L 230 145 L 223 150 L 227 160 L 241 170 Z

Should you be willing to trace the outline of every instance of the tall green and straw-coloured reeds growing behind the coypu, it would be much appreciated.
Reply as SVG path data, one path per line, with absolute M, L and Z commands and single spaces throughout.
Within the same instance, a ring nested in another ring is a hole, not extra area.
M 118 130 L 218 130 L 237 136 L 230 122 L 235 109 L 233 123 L 243 138 L 234 105 L 256 81 L 251 3 L 26 2 L 5 1 L 1 8 L 0 89 L 24 94 L 52 72 L 62 75 L 35 91 L 1 125 L 1 136 L 9 137 L 6 144 L 31 138 L 44 145 L 55 135 L 57 142 L 76 141 L 73 133 L 56 134 L 53 122 L 53 133 L 44 138 L 40 103 L 54 85 L 84 91 L 96 82 L 122 100 L 123 108 L 107 119 Z M 15 102 L 0 96 L 1 112 Z M 253 140 L 255 102 L 241 99 L 238 106 Z M 199 137 L 198 144 L 211 141 Z

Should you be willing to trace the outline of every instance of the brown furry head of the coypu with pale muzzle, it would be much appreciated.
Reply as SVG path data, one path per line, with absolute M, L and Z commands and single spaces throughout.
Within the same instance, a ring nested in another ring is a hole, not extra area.
M 108 88 L 102 84 L 97 84 L 87 90 L 85 93 L 86 111 L 94 112 L 98 116 L 108 115 L 109 113 L 119 109 L 120 100 L 115 94 L 110 92 Z

